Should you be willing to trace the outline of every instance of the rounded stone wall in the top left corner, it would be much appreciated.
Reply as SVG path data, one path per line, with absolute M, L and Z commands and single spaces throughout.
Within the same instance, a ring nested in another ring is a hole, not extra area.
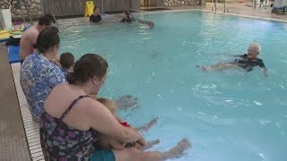
M 1 9 L 9 8 L 12 0 L 0 0 Z M 22 0 L 25 2 L 24 5 L 20 4 L 19 0 L 13 0 L 12 5 L 12 18 L 22 18 L 22 7 L 23 14 L 28 17 L 28 11 L 30 11 L 31 17 L 40 17 L 43 15 L 42 2 L 41 0 Z M 26 7 L 28 10 L 26 10 Z

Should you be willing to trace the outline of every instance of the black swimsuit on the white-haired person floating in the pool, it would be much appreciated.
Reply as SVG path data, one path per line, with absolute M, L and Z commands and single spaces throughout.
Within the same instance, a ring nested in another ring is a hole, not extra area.
M 235 59 L 230 64 L 237 64 L 241 68 L 246 69 L 248 72 L 252 71 L 253 67 L 256 67 L 257 65 L 261 68 L 265 68 L 265 64 L 263 63 L 262 59 L 249 59 L 247 54 L 238 56 L 240 57 L 240 59 Z

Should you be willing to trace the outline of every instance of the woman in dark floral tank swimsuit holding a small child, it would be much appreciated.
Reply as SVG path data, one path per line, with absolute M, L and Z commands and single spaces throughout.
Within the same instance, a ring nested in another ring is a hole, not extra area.
M 46 160 L 160 161 L 188 147 L 180 144 L 170 153 L 143 152 L 136 148 L 96 150 L 99 132 L 123 143 L 144 145 L 143 136 L 122 126 L 106 106 L 88 95 L 97 95 L 105 84 L 108 63 L 100 55 L 83 55 L 68 76 L 68 84 L 55 87 L 45 101 L 40 142 Z M 60 99 L 59 99 L 60 97 Z

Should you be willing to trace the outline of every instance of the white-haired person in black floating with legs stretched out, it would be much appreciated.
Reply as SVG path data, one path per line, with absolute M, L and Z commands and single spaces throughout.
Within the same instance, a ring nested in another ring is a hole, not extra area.
M 251 43 L 248 47 L 248 54 L 245 55 L 235 55 L 236 58 L 233 62 L 230 63 L 219 63 L 215 65 L 197 65 L 196 67 L 202 69 L 203 71 L 222 71 L 230 68 L 243 68 L 250 72 L 253 70 L 254 67 L 259 66 L 261 67 L 262 71 L 267 76 L 267 70 L 265 68 L 265 64 L 263 63 L 262 59 L 259 59 L 257 56 L 259 55 L 261 47 L 257 43 Z

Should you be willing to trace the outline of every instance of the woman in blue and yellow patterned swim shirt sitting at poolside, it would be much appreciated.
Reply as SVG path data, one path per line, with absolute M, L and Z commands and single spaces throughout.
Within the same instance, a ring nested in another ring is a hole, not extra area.
M 58 84 L 65 83 L 65 75 L 52 61 L 57 55 L 60 38 L 56 27 L 42 30 L 34 45 L 38 52 L 23 61 L 20 82 L 34 121 L 43 114 L 44 101 Z

